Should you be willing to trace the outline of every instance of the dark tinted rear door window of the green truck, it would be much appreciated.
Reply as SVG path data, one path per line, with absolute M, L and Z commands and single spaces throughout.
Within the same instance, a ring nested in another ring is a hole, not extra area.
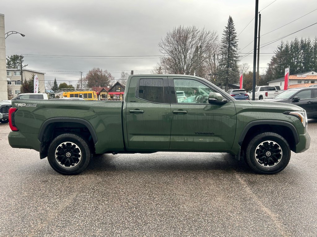
M 161 78 L 142 78 L 139 81 L 138 98 L 155 103 L 164 103 L 164 87 Z

